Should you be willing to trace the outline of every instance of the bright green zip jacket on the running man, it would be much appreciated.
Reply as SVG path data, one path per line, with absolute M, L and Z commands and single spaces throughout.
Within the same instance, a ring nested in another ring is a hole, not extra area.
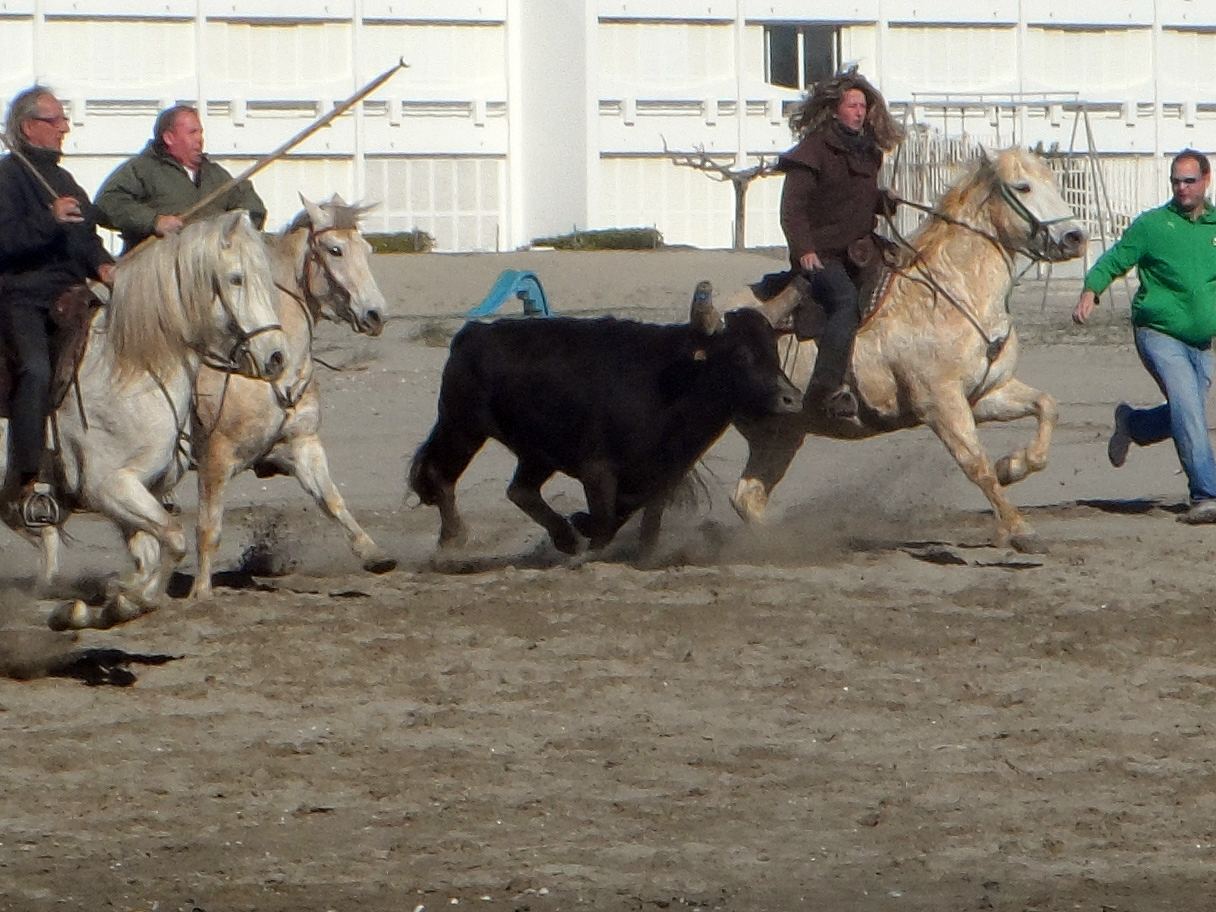
M 1100 294 L 1132 266 L 1139 288 L 1132 323 L 1188 345 L 1216 336 L 1216 209 L 1192 220 L 1171 201 L 1142 213 L 1085 276 L 1086 291 Z

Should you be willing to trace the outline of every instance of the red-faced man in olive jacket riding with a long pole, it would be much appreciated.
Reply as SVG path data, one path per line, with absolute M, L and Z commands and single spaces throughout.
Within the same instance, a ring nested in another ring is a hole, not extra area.
M 96 204 L 106 227 L 123 236 L 123 253 L 151 235 L 164 237 L 181 230 L 178 218 L 216 187 L 232 179 L 203 153 L 203 125 L 198 111 L 175 105 L 161 112 L 152 140 L 134 158 L 106 178 Z M 249 181 L 241 181 L 208 204 L 198 218 L 248 209 L 257 227 L 266 221 L 266 206 Z

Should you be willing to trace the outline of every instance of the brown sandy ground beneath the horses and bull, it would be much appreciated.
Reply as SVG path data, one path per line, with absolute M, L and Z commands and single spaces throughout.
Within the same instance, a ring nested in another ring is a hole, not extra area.
M 474 541 L 433 561 L 438 517 L 402 473 L 445 339 L 501 269 L 535 269 L 558 313 L 676 320 L 697 280 L 778 265 L 381 258 L 384 336 L 321 336 L 347 368 L 321 372 L 325 438 L 400 568 L 364 574 L 293 480 L 247 475 L 223 565 L 258 575 L 80 637 L 180 659 L 129 688 L 0 682 L 0 910 L 1214 907 L 1216 529 L 1175 522 L 1167 445 L 1107 465 L 1114 405 L 1154 401 L 1125 300 L 1083 332 L 1075 283 L 1014 300 L 1021 376 L 1062 412 L 1015 489 L 1041 558 L 985 545 L 983 497 L 918 429 L 809 441 L 759 530 L 727 503 L 730 432 L 711 502 L 648 570 L 632 527 L 562 561 L 491 446 L 460 489 Z M 69 530 L 71 576 L 124 565 L 100 520 Z M 5 540 L 10 643 L 52 607 L 33 559 Z

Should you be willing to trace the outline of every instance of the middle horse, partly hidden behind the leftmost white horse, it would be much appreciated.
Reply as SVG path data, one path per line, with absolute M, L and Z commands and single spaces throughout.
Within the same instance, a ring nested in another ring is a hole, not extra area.
M 371 207 L 348 206 L 337 196 L 320 206 L 303 196 L 300 199 L 304 212 L 270 242 L 270 254 L 278 316 L 304 392 L 287 407 L 268 383 L 206 367 L 199 372 L 193 447 L 198 463 L 198 575 L 192 598 L 212 595 L 224 491 L 248 468 L 261 477 L 295 475 L 321 510 L 340 523 L 365 569 L 387 573 L 396 567 L 355 522 L 330 477 L 319 437 L 320 384 L 313 376 L 313 333 L 322 315 L 368 336 L 379 336 L 384 328 L 387 304 L 371 272 L 371 244 L 359 233 L 359 219 Z

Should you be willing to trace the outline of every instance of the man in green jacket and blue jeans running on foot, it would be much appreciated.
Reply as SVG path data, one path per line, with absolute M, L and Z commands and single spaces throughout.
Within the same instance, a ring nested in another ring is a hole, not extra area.
M 1131 444 L 1148 446 L 1172 438 L 1190 494 L 1190 510 L 1180 517 L 1184 523 L 1216 523 L 1216 460 L 1206 405 L 1216 336 L 1216 209 L 1206 199 L 1210 181 L 1206 156 L 1189 148 L 1175 156 L 1170 167 L 1173 198 L 1142 213 L 1093 264 L 1073 310 L 1073 320 L 1083 323 L 1098 295 L 1137 268 L 1136 351 L 1165 402 L 1153 409 L 1120 402 L 1107 455 L 1119 468 Z

